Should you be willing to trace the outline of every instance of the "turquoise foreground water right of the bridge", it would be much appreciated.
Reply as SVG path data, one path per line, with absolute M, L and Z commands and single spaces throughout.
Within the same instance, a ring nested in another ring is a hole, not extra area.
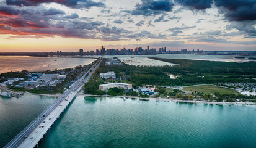
M 256 107 L 77 97 L 39 147 L 255 147 Z

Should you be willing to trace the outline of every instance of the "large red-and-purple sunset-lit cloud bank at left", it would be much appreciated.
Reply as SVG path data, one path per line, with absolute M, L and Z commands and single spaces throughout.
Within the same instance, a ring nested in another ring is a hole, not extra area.
M 64 11 L 44 6 L 19 7 L 0 6 L 0 34 L 11 34 L 15 36 L 31 36 L 44 38 L 46 36 L 61 36 L 71 38 L 97 39 L 97 28 L 104 25 L 101 22 L 86 22 L 79 19 L 79 15 L 66 15 Z M 16 10 L 16 11 L 15 11 Z M 5 15 L 2 19 L 2 13 Z M 13 17 L 13 15 L 15 17 Z

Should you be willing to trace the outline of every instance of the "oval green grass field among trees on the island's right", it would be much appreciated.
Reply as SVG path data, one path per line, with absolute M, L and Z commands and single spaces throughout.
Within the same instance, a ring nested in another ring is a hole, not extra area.
M 195 91 L 203 92 L 205 94 L 214 94 L 214 92 L 219 92 L 220 94 L 239 94 L 235 89 L 221 88 L 221 87 L 212 86 L 212 85 L 189 86 L 189 87 L 184 87 L 183 90 L 193 91 L 193 92 Z

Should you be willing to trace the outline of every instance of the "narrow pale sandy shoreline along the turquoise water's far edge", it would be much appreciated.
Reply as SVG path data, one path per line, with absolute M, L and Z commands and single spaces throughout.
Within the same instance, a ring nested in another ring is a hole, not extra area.
M 111 96 L 111 95 L 92 95 L 92 94 L 77 94 L 77 96 L 84 96 L 84 97 L 123 97 L 123 99 L 130 98 L 130 99 L 139 99 L 141 101 L 167 101 L 167 102 L 182 102 L 182 103 L 203 103 L 203 104 L 216 104 L 216 105 L 236 105 L 236 104 L 242 104 L 242 105 L 256 105 L 254 102 L 216 102 L 216 101 L 194 101 L 194 100 L 180 100 L 180 99 L 165 99 L 165 98 L 154 98 L 154 97 L 148 97 L 148 98 L 141 98 L 138 96 Z

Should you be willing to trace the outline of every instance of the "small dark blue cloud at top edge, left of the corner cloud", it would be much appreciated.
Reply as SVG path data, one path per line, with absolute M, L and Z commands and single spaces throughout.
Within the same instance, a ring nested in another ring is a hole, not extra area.
M 213 0 L 174 0 L 178 4 L 182 6 L 186 6 L 191 10 L 203 10 L 206 8 L 210 8 L 211 4 L 213 4 Z

